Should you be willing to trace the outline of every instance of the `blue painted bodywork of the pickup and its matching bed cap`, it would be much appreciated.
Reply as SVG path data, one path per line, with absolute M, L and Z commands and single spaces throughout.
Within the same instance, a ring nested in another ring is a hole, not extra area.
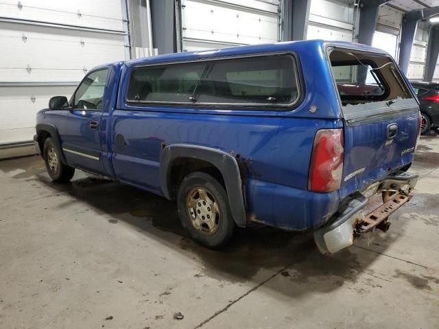
M 281 42 L 99 66 L 96 69 L 110 69 L 102 112 L 42 110 L 37 123 L 56 125 L 63 145 L 73 143 L 84 150 L 99 152 L 98 161 L 65 153 L 67 162 L 74 167 L 159 195 L 163 195 L 159 179 L 163 145 L 202 145 L 239 154 L 248 165 L 244 180 L 248 215 L 289 230 L 318 228 L 329 220 L 344 197 L 379 180 L 389 168 L 397 169 L 412 162 L 412 153 L 401 156 L 401 152 L 416 144 L 417 127 L 414 116 L 346 126 L 325 45 L 322 40 Z M 377 51 L 345 42 L 336 45 Z M 292 53 L 296 58 L 301 98 L 294 108 L 234 107 L 231 110 L 227 106 L 139 106 L 126 102 L 129 76 L 136 66 L 270 53 Z M 317 111 L 311 113 L 311 106 L 316 106 Z M 99 130 L 88 129 L 91 119 L 99 121 Z M 400 127 L 397 143 L 390 147 L 384 145 L 389 122 L 396 122 Z M 344 176 L 361 167 L 367 170 L 343 182 L 340 190 L 313 193 L 307 190 L 313 138 L 318 130 L 333 128 L 344 128 Z M 117 149 L 119 134 L 126 143 L 123 150 Z

